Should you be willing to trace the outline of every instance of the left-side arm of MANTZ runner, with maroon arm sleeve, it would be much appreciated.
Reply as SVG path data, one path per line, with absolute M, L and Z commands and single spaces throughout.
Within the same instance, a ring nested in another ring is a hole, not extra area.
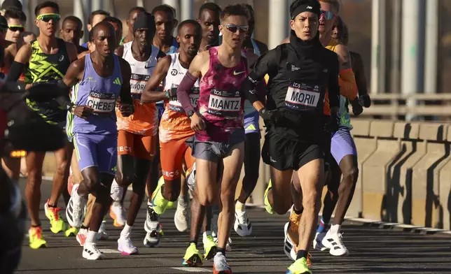
M 191 104 L 189 91 L 193 88 L 195 82 L 201 77 L 202 65 L 209 64 L 209 52 L 204 51 L 196 55 L 193 62 L 190 64 L 190 68 L 186 73 L 183 80 L 181 80 L 179 87 L 177 88 L 177 99 L 179 99 L 183 110 L 189 116 L 188 112 L 194 111 L 194 107 Z

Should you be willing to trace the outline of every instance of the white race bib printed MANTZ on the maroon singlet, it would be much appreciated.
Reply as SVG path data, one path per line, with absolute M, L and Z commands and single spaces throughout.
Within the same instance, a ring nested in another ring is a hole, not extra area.
M 240 116 L 241 94 L 239 91 L 211 89 L 208 113 L 225 118 Z

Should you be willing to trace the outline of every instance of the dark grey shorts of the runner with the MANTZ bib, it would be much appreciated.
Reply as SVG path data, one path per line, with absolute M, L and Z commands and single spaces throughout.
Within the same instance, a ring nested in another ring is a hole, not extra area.
M 244 129 L 235 129 L 228 142 L 200 141 L 195 136 L 189 138 L 186 142 L 193 149 L 193 157 L 195 159 L 203 159 L 218 163 L 227 157 L 234 145 L 242 143 L 246 140 Z

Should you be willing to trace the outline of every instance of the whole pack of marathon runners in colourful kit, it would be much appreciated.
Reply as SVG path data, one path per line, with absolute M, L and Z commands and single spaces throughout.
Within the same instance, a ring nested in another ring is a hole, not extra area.
M 14 33 L 1 37 L 6 81 L 22 81 L 26 89 L 53 83 L 66 94 L 27 101 L 69 140 L 55 152 L 52 193 L 44 205 L 51 231 L 76 236 L 83 258 L 102 259 L 96 241 L 108 238 L 109 212 L 122 228 L 118 250 L 137 254 L 130 235 L 147 196 L 146 247 L 158 246 L 160 215 L 176 207 L 176 228 L 190 233 L 183 265 L 212 259 L 214 273 L 232 273 L 225 257 L 230 231 L 252 233 L 245 203 L 262 156 L 271 173 L 266 210 L 291 212 L 284 252 L 294 262 L 286 273 L 311 273 L 311 246 L 347 255 L 340 226 L 359 175 L 349 106 L 359 115 L 371 103 L 362 61 L 347 49 L 337 0 L 296 0 L 289 11 L 290 36 L 268 50 L 252 38 L 254 10 L 244 4 L 221 9 L 204 3 L 197 20 L 183 22 L 170 6 L 151 13 L 135 7 L 125 36 L 118 18 L 97 10 L 85 45 L 81 20 L 61 20 L 53 1 L 36 6 L 39 36 L 31 42 L 24 41 L 25 15 L 6 8 L 2 34 Z M 262 151 L 260 118 L 266 128 Z M 39 219 L 45 157 L 28 152 L 22 171 L 20 159 L 2 162 L 11 178 L 27 173 L 33 249 L 47 245 Z M 61 195 L 68 224 L 57 204 Z

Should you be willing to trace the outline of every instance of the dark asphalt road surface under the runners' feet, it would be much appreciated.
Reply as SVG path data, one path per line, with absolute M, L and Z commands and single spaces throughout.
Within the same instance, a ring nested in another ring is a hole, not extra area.
M 22 189 L 25 180 L 21 180 Z M 102 261 L 81 257 L 82 247 L 75 238 L 53 234 L 44 215 L 43 204 L 50 194 L 50 182 L 43 182 L 41 220 L 48 248 L 32 250 L 25 239 L 22 261 L 17 273 L 48 274 L 166 274 L 212 273 L 211 261 L 200 268 L 181 265 L 188 245 L 188 233 L 174 226 L 174 210 L 161 217 L 165 236 L 160 247 L 144 247 L 145 207 L 141 209 L 132 231 L 132 240 L 140 254 L 123 256 L 117 251 L 120 229 L 107 219 L 109 239 L 99 242 L 106 254 Z M 64 205 L 61 200 L 60 205 Z M 291 264 L 283 252 L 283 226 L 288 215 L 268 215 L 263 209 L 249 210 L 254 227 L 251 236 L 242 238 L 232 233 L 232 251 L 228 261 L 233 273 L 285 273 Z M 328 252 L 312 252 L 313 273 L 451 273 L 451 236 L 422 235 L 388 229 L 377 229 L 358 222 L 345 222 L 343 237 L 349 257 L 333 257 Z M 202 239 L 200 240 L 202 243 Z M 202 245 L 200 245 L 201 247 Z

